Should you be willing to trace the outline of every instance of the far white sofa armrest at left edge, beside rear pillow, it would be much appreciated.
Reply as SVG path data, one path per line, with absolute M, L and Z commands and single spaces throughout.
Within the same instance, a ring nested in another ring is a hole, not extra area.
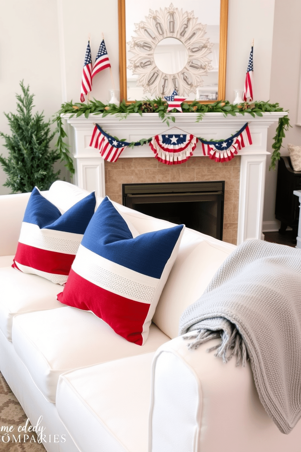
M 0 196 L 0 256 L 15 254 L 30 193 Z

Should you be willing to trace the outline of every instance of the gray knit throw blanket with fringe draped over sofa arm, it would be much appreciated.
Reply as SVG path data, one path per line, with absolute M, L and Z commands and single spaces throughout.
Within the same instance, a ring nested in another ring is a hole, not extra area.
M 190 348 L 221 338 L 225 363 L 250 359 L 261 403 L 282 433 L 301 417 L 301 250 L 248 240 L 180 319 Z M 212 350 L 210 348 L 208 351 Z

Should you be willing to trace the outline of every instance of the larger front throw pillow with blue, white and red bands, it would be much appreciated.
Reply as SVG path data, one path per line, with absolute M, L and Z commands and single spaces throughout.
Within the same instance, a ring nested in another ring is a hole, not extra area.
M 133 236 L 109 198 L 83 235 L 58 300 L 93 311 L 120 336 L 143 345 L 185 226 Z

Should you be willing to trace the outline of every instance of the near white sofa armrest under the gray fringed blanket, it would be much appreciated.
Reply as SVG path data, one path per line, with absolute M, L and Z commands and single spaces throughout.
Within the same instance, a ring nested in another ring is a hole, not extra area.
M 149 452 L 298 450 L 301 421 L 281 433 L 265 412 L 250 364 L 208 353 L 214 339 L 189 350 L 183 336 L 158 348 L 152 364 Z

